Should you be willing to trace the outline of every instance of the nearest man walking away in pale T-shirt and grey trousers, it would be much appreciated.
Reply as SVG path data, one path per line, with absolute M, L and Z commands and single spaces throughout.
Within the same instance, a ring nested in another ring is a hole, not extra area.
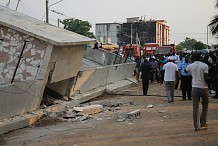
M 192 75 L 192 99 L 193 99 L 193 122 L 195 131 L 199 131 L 200 127 L 207 128 L 207 113 L 209 104 L 209 90 L 207 85 L 208 65 L 200 61 L 201 55 L 197 52 L 192 54 L 194 63 L 186 68 L 191 71 Z M 202 112 L 200 116 L 199 103 L 202 100 Z M 200 124 L 200 125 L 199 125 Z

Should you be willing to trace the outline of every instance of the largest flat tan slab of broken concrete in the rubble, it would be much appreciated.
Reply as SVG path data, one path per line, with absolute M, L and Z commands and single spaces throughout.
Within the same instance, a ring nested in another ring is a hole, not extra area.
M 73 108 L 75 111 L 80 112 L 81 114 L 96 114 L 100 113 L 103 111 L 103 106 L 102 105 L 90 105 L 90 106 L 85 106 L 85 107 L 74 107 Z

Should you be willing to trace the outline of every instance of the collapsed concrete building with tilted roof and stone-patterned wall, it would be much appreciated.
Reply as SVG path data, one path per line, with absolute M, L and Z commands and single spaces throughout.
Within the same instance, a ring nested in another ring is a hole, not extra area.
M 2 6 L 0 18 L 0 120 L 39 109 L 45 89 L 84 102 L 134 82 L 135 63 L 86 49 L 94 39 Z

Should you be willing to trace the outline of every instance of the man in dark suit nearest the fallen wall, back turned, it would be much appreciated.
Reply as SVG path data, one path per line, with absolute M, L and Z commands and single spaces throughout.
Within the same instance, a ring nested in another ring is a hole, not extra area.
M 143 95 L 147 95 L 149 80 L 151 79 L 151 65 L 148 63 L 146 59 L 144 59 L 144 62 L 141 65 L 141 72 Z

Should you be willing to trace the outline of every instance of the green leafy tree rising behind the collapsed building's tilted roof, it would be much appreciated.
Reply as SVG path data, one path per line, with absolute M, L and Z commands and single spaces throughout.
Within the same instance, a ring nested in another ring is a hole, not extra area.
M 89 32 L 92 25 L 88 21 L 71 18 L 64 19 L 61 21 L 61 23 L 64 25 L 64 29 L 87 36 L 89 38 L 95 38 L 94 34 Z

